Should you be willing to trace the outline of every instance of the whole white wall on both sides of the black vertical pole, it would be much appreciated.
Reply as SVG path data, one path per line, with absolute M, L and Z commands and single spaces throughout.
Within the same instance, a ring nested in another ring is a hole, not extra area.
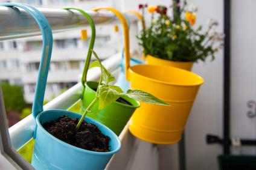
M 189 0 L 200 11 L 198 21 L 216 17 L 223 21 L 223 2 Z M 256 101 L 255 56 L 256 1 L 231 1 L 231 138 L 255 139 L 256 119 L 246 116 L 247 102 Z M 220 28 L 223 24 L 220 25 Z M 217 145 L 206 145 L 206 133 L 222 136 L 223 56 L 216 61 L 197 64 L 193 71 L 205 79 L 194 103 L 187 125 L 186 146 L 188 169 L 217 169 L 216 156 L 222 153 Z M 232 147 L 232 154 L 256 154 L 255 147 Z M 210 166 L 209 166 L 210 165 Z

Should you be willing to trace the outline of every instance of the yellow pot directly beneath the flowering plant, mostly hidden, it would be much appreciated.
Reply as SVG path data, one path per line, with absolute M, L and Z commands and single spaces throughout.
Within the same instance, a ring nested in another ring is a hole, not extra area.
M 193 62 L 170 61 L 167 59 L 156 58 L 155 56 L 152 56 L 152 55 L 146 56 L 146 62 L 147 64 L 150 64 L 150 65 L 166 65 L 171 67 L 182 68 L 188 71 L 191 71 L 193 67 Z

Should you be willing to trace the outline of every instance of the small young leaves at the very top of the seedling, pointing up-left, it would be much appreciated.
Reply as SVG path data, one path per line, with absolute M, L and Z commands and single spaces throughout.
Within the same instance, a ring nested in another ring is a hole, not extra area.
M 107 69 L 101 64 L 100 58 L 98 58 L 97 53 L 94 50 L 92 50 L 92 53 L 94 54 L 94 56 L 97 59 L 97 61 L 92 62 L 92 64 L 90 65 L 90 68 L 92 68 L 92 67 L 100 67 L 100 69 L 101 69 L 101 76 L 102 76 L 103 81 L 106 83 L 106 85 L 109 82 L 114 82 L 115 81 L 115 77 L 109 71 L 107 71 Z

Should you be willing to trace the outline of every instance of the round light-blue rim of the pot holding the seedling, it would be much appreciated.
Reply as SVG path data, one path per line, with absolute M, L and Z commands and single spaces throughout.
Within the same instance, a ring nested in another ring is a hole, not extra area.
M 117 140 L 118 142 L 118 145 L 117 145 L 117 149 L 113 150 L 113 151 L 109 151 L 109 152 L 96 152 L 96 151 L 89 151 L 89 150 L 85 150 L 85 149 L 82 149 L 82 148 L 78 148 L 78 147 L 75 147 L 74 145 L 71 145 L 71 144 L 68 144 L 66 142 L 63 142 L 62 140 L 56 138 L 55 136 L 51 135 L 51 133 L 47 132 L 42 124 L 40 123 L 39 121 L 39 118 L 40 118 L 40 115 L 42 114 L 45 114 L 45 112 L 51 112 L 51 111 L 57 111 L 57 112 L 70 112 L 71 114 L 75 114 L 75 115 L 78 115 L 80 117 L 82 117 L 81 114 L 77 114 L 75 112 L 71 112 L 71 111 L 64 111 L 64 110 L 60 110 L 60 109 L 51 109 L 51 110 L 47 110 L 47 111 L 43 111 L 43 112 L 40 112 L 40 114 L 37 115 L 36 117 L 36 124 L 37 124 L 37 128 L 41 128 L 43 130 L 43 133 L 45 133 L 45 135 L 53 138 L 55 141 L 59 142 L 60 144 L 62 145 L 65 145 L 66 147 L 71 147 L 73 148 L 74 150 L 77 150 L 77 151 L 82 151 L 84 153 L 88 153 L 88 154 L 95 154 L 95 155 L 112 155 L 112 154 L 115 154 L 117 153 L 120 149 L 121 149 L 121 142 L 120 142 L 120 139 L 118 138 L 118 136 L 112 131 L 110 130 L 108 127 L 104 126 L 104 124 L 101 124 L 100 122 L 92 119 L 92 118 L 89 118 L 89 117 L 85 117 L 83 120 L 89 120 L 91 121 L 92 124 L 95 124 L 97 127 L 98 126 L 102 126 L 103 128 L 107 129 L 107 131 L 109 131 L 109 133 L 111 133 L 115 139 L 112 139 L 110 138 L 110 140 Z M 67 115 L 68 116 L 68 115 Z M 103 133 L 104 134 L 104 133 Z M 105 134 L 104 134 L 105 135 Z M 107 136 L 107 135 L 106 135 Z

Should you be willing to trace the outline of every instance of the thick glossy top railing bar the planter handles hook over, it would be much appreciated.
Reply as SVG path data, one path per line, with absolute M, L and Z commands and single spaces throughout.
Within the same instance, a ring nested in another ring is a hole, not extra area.
M 51 8 L 38 8 L 38 10 L 46 17 L 53 32 L 84 28 L 86 25 L 89 26 L 88 20 L 78 11 Z M 109 12 L 86 11 L 86 13 L 90 14 L 96 25 L 119 22 L 119 19 Z M 127 14 L 127 16 L 132 22 L 138 20 L 131 14 Z M 40 35 L 39 27 L 25 10 L 0 7 L 0 40 L 36 35 Z

